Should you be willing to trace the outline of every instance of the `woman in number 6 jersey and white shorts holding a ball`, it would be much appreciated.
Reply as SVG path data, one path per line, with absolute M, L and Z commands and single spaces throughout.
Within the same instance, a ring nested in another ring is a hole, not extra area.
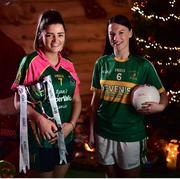
M 148 102 L 136 111 L 130 94 L 143 84 L 159 90 L 160 103 Z M 108 21 L 105 52 L 95 63 L 91 90 L 89 145 L 95 144 L 98 162 L 108 177 L 139 177 L 144 115 L 163 111 L 168 97 L 153 65 L 138 55 L 132 25 L 123 15 Z

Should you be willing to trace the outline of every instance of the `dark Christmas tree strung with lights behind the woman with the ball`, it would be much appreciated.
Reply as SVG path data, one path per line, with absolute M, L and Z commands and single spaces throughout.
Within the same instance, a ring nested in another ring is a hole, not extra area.
M 136 0 L 131 10 L 140 51 L 154 64 L 169 95 L 168 107 L 150 116 L 147 125 L 152 150 L 159 150 L 158 139 L 180 140 L 180 1 Z

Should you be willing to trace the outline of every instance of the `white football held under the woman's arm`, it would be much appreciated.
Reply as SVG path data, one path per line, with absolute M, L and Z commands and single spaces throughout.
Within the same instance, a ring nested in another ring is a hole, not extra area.
M 131 93 L 131 103 L 136 110 L 141 109 L 145 102 L 160 102 L 160 94 L 156 87 L 151 85 L 138 85 Z

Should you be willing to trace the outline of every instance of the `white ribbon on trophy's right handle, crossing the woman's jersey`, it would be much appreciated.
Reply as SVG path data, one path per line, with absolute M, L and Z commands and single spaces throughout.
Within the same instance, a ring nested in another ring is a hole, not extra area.
M 58 142 L 59 157 L 60 157 L 59 163 L 62 164 L 63 161 L 67 163 L 67 160 L 66 160 L 67 150 L 66 150 L 66 145 L 64 142 L 64 134 L 62 130 L 61 117 L 60 117 L 59 109 L 56 103 L 56 96 L 55 96 L 54 88 L 52 85 L 51 76 L 46 76 L 44 80 L 47 82 L 48 97 L 49 97 L 49 102 L 51 105 L 54 120 L 56 121 L 57 126 L 61 128 L 61 130 L 60 131 L 58 130 L 57 132 L 57 142 Z

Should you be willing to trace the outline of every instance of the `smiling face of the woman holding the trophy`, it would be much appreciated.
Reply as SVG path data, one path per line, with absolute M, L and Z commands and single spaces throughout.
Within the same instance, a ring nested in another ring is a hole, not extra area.
M 42 32 L 43 49 L 48 53 L 61 52 L 65 43 L 65 30 L 62 24 L 51 24 Z

